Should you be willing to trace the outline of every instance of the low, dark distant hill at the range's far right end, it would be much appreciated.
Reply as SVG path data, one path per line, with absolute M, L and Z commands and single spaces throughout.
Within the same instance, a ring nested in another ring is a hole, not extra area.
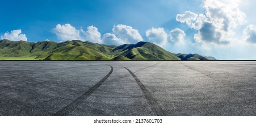
M 181 60 L 217 60 L 211 56 L 202 56 L 199 54 L 176 54 Z

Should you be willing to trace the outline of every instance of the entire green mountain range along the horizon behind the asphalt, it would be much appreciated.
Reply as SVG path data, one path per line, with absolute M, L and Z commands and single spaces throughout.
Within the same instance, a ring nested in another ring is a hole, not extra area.
M 199 54 L 174 54 L 150 43 L 104 45 L 72 40 L 25 42 L 0 40 L 0 60 L 216 60 Z

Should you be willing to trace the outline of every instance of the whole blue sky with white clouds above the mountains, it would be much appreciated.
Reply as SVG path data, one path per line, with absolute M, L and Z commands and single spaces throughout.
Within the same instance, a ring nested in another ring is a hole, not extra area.
M 153 42 L 173 53 L 256 59 L 254 0 L 5 0 L 0 36 L 121 45 Z

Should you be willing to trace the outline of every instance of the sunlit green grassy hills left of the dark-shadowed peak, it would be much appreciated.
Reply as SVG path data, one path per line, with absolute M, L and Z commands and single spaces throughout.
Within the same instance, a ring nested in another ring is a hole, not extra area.
M 79 40 L 66 42 L 0 41 L 0 59 L 4 60 L 111 60 L 117 46 Z

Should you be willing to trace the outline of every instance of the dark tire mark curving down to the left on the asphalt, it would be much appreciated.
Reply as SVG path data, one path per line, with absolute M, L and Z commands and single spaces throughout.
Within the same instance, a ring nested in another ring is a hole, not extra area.
M 109 65 L 110 66 L 110 65 Z M 106 79 L 109 78 L 109 76 L 113 72 L 113 67 L 111 67 L 111 71 L 109 71 L 109 74 L 106 75 L 101 81 L 99 81 L 97 84 L 95 84 L 93 87 L 91 87 L 87 92 L 85 92 L 83 95 L 76 98 L 76 100 L 72 101 L 70 104 L 53 114 L 52 116 L 67 116 L 74 108 L 76 108 L 78 105 L 82 103 L 82 100 L 86 100 L 88 96 L 90 96 L 95 90 L 97 90 L 98 87 L 101 86 L 102 83 L 105 82 Z

